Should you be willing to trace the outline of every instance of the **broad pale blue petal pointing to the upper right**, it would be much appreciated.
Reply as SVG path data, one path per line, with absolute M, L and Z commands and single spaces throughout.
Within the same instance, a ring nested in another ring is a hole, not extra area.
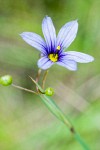
M 78 30 L 78 22 L 71 21 L 66 23 L 59 31 L 57 36 L 57 45 L 61 48 L 67 48 L 75 39 Z

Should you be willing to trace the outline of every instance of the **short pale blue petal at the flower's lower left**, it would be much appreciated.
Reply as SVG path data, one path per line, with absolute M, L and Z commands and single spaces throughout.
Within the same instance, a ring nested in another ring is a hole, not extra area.
M 54 63 L 50 61 L 47 57 L 42 57 L 38 60 L 38 67 L 43 70 L 50 68 L 53 64 Z

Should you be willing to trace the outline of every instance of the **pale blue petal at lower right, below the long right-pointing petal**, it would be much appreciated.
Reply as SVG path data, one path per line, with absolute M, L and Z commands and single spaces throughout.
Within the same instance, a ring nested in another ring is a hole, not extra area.
M 62 59 L 57 62 L 58 65 L 63 66 L 71 71 L 77 70 L 77 63 L 73 60 Z

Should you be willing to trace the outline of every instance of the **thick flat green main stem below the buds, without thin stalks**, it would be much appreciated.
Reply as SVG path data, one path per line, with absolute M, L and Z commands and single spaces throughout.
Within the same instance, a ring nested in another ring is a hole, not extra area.
M 74 129 L 71 121 L 65 114 L 61 111 L 61 109 L 56 105 L 56 103 L 46 95 L 39 95 L 44 104 L 48 107 L 48 109 L 60 120 L 62 121 L 69 129 L 69 131 L 73 134 L 74 138 L 81 144 L 84 150 L 90 150 L 85 141 L 80 137 L 77 131 Z

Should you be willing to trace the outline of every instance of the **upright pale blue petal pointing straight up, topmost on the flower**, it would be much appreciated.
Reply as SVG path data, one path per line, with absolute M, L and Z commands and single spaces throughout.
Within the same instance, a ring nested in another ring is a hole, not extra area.
M 46 40 L 48 51 L 56 46 L 56 32 L 50 17 L 46 16 L 42 22 L 42 31 Z

